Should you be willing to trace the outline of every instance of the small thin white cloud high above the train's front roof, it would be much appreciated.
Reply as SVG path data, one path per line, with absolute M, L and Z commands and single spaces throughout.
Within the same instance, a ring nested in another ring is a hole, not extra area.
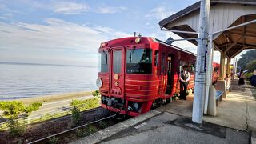
M 126 7 L 123 6 L 98 6 L 98 8 L 95 10 L 96 13 L 102 13 L 102 14 L 114 14 L 122 12 L 123 10 L 126 10 Z

